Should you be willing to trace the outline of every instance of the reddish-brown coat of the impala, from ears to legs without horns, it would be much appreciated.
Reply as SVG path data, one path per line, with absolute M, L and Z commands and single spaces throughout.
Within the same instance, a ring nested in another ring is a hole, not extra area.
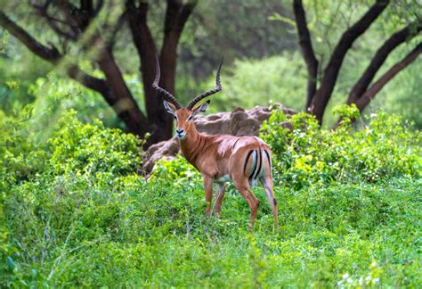
M 249 184 L 254 160 L 253 158 L 249 158 L 246 167 L 245 161 L 247 161 L 248 153 L 251 150 L 256 150 L 256 152 L 262 153 L 260 161 L 263 169 L 259 179 L 270 201 L 275 227 L 278 227 L 277 201 L 274 198 L 272 190 L 271 161 L 266 158 L 267 154 L 271 156 L 270 147 L 256 136 L 207 136 L 200 134 L 194 122 L 188 120 L 192 114 L 194 115 L 198 112 L 197 110 L 199 110 L 200 106 L 190 111 L 186 108 L 176 110 L 172 103 L 169 104 L 177 119 L 176 129 L 184 131 L 183 139 L 179 138 L 183 156 L 199 170 L 204 178 L 207 215 L 209 216 L 211 214 L 214 183 L 218 185 L 215 214 L 220 214 L 225 190 L 223 181 L 220 179 L 224 176 L 229 176 L 239 193 L 248 202 L 251 209 L 249 228 L 252 229 L 256 219 L 259 201 L 253 194 Z M 258 160 L 257 157 L 256 160 Z M 258 166 L 258 163 L 259 161 L 257 161 L 256 166 Z

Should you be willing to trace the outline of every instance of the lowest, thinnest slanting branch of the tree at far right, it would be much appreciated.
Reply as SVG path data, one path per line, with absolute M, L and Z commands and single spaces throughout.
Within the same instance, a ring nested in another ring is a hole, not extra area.
M 400 62 L 395 63 L 388 71 L 386 71 L 378 80 L 371 86 L 369 89 L 361 95 L 361 97 L 356 102 L 356 107 L 363 111 L 363 109 L 368 105 L 368 103 L 374 99 L 375 95 L 388 83 L 392 78 L 394 78 L 400 71 L 404 70 L 409 66 L 411 62 L 414 62 L 418 55 L 422 53 L 422 43 L 419 43 L 415 49 L 413 49 L 409 54 L 407 54 Z

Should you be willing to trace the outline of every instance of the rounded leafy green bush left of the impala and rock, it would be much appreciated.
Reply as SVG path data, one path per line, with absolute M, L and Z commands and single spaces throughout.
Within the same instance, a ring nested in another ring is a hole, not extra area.
M 141 165 L 140 142 L 117 128 L 104 128 L 100 121 L 83 124 L 62 119 L 66 126 L 50 139 L 50 165 L 56 174 L 126 175 Z

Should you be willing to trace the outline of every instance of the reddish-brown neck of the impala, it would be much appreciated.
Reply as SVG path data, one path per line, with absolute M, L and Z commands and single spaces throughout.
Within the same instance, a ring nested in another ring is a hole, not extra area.
M 199 152 L 203 149 L 205 142 L 205 136 L 201 135 L 195 125 L 192 125 L 190 130 L 186 133 L 184 139 L 179 139 L 180 149 L 182 150 L 185 159 L 196 167 L 196 159 Z

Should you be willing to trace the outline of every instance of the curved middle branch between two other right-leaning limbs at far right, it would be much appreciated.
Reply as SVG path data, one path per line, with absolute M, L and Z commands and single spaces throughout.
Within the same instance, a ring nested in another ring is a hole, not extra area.
M 377 74 L 377 71 L 385 62 L 387 56 L 398 45 L 401 45 L 403 42 L 408 41 L 411 37 L 417 36 L 418 32 L 420 32 L 421 29 L 422 21 L 411 23 L 404 29 L 401 29 L 400 31 L 394 33 L 390 38 L 385 41 L 383 45 L 381 45 L 381 47 L 378 48 L 377 53 L 372 58 L 368 68 L 365 70 L 365 72 L 363 72 L 361 78 L 359 78 L 359 80 L 352 88 L 347 100 L 348 104 L 355 103 L 366 91 L 366 89 L 369 87 L 370 82 Z

